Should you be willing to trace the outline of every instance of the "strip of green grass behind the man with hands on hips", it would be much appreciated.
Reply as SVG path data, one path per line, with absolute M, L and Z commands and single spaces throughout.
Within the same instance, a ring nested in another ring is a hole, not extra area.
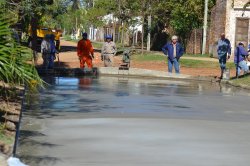
M 135 61 L 166 61 L 167 57 L 157 53 L 150 53 L 150 54 L 134 54 L 132 56 L 132 60 Z M 205 60 L 193 60 L 193 59 L 181 59 L 180 64 L 183 67 L 189 68 L 219 68 L 218 62 L 213 61 L 205 61 Z M 234 63 L 228 62 L 227 67 L 229 69 L 235 68 Z

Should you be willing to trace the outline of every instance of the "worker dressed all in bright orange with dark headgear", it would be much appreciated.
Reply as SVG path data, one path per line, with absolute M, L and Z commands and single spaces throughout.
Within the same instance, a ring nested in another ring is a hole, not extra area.
M 82 39 L 77 44 L 77 55 L 80 60 L 80 68 L 84 68 L 85 63 L 87 63 L 89 69 L 93 68 L 94 49 L 87 33 L 82 34 Z

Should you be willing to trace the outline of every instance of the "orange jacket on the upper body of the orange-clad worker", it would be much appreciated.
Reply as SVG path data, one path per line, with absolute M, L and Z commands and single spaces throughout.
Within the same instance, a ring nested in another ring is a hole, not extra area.
M 78 56 L 90 56 L 94 54 L 94 48 L 89 39 L 80 40 L 77 44 L 77 55 Z

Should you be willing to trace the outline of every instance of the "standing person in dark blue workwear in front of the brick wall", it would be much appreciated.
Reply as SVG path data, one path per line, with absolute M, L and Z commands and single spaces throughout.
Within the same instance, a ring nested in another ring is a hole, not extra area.
M 221 76 L 220 79 L 223 77 L 223 73 L 226 70 L 226 63 L 227 60 L 230 59 L 231 56 L 231 43 L 230 41 L 225 37 L 225 34 L 221 34 L 221 38 L 218 41 L 218 48 L 217 48 L 220 68 L 221 68 Z

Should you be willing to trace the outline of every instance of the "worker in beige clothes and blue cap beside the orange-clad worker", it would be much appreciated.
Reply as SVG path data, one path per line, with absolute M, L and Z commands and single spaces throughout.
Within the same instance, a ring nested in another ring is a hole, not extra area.
M 106 42 L 102 46 L 101 58 L 104 61 L 105 67 L 112 67 L 114 63 L 114 56 L 116 55 L 117 48 L 115 43 L 112 41 L 112 36 L 106 36 Z

